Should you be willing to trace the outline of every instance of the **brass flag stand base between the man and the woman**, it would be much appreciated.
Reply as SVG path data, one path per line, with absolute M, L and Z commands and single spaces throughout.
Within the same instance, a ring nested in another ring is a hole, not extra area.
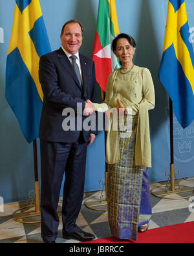
M 105 190 L 104 190 L 104 186 L 105 186 Z M 103 188 L 101 190 L 100 195 L 89 196 L 89 198 L 87 198 L 84 202 L 85 206 L 94 211 L 107 211 L 107 208 L 106 209 L 99 208 L 107 205 L 106 199 L 103 200 L 104 192 L 105 192 L 105 198 L 107 198 L 107 172 L 105 172 L 105 183 L 103 183 Z M 94 199 L 94 198 L 98 198 L 98 199 Z

